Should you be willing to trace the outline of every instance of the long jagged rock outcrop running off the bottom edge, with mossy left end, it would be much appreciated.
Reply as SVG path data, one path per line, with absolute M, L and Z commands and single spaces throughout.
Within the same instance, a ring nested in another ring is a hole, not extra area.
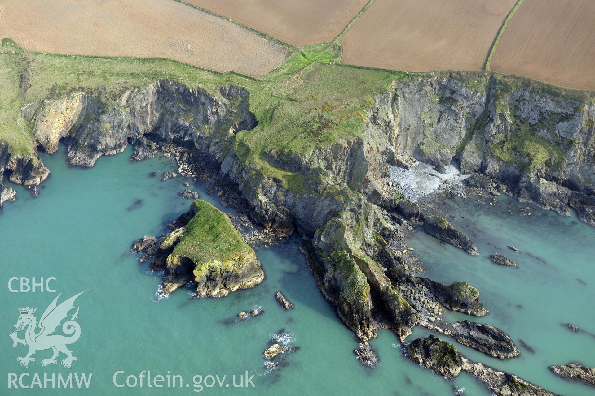
M 518 376 L 499 372 L 482 363 L 475 363 L 461 356 L 456 346 L 434 335 L 416 338 L 405 346 L 406 356 L 441 376 L 456 377 L 468 372 L 486 382 L 497 396 L 555 396 L 552 392 L 533 385 Z

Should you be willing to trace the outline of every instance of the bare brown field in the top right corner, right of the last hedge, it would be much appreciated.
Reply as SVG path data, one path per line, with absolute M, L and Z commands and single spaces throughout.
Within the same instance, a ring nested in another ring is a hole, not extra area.
M 593 0 L 525 0 L 506 27 L 490 68 L 592 90 L 593 43 Z

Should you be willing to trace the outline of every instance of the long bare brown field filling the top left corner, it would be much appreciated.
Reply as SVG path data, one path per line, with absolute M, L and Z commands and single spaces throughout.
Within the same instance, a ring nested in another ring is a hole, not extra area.
M 170 58 L 255 76 L 289 56 L 258 34 L 170 0 L 4 0 L 0 37 L 32 51 Z

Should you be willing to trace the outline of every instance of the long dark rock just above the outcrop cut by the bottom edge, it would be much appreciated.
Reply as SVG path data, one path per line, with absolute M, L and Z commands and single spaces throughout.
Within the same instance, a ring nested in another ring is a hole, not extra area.
M 518 356 L 521 351 L 502 330 L 492 325 L 469 321 L 422 323 L 424 327 L 454 338 L 459 343 L 498 359 Z

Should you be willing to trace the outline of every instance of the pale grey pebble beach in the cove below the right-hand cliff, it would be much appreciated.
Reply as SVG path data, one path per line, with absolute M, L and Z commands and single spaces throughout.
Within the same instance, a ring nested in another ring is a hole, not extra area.
M 419 202 L 428 194 L 439 191 L 444 182 L 460 185 L 470 176 L 462 175 L 453 165 L 445 166 L 446 173 L 444 174 L 437 172 L 433 166 L 422 162 L 409 169 L 399 166 L 389 166 L 389 168 L 390 178 L 400 185 L 405 198 L 414 202 Z

